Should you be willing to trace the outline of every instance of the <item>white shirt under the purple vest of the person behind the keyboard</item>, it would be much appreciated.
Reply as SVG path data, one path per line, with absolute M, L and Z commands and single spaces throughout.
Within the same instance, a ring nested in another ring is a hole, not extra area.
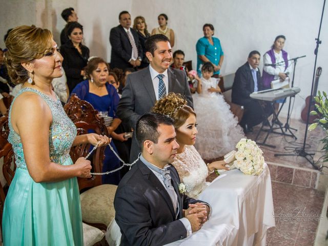
M 292 70 L 293 70 L 293 65 L 292 65 L 292 61 L 289 60 L 288 61 L 288 67 L 285 70 L 285 62 L 284 59 L 282 57 L 282 52 L 280 51 L 279 53 L 276 53 L 275 51 L 273 52 L 275 54 L 275 58 L 276 58 L 276 63 L 280 63 L 279 65 L 276 65 L 276 68 L 272 67 L 272 66 L 264 66 L 263 70 L 269 74 L 275 75 L 274 79 L 278 79 L 279 73 L 288 73 L 289 72 L 289 76 L 291 76 Z M 290 59 L 289 54 L 287 54 L 287 59 Z M 271 57 L 268 53 L 264 54 L 264 64 L 272 64 L 272 60 Z

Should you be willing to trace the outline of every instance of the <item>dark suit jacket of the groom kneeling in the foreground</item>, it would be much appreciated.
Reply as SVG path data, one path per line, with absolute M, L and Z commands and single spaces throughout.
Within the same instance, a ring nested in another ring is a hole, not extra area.
M 180 179 L 173 166 L 171 181 L 178 195 L 179 211 L 201 202 L 179 193 Z M 163 245 L 187 237 L 175 218 L 172 200 L 155 174 L 141 161 L 121 179 L 114 199 L 115 220 L 121 230 L 120 245 Z

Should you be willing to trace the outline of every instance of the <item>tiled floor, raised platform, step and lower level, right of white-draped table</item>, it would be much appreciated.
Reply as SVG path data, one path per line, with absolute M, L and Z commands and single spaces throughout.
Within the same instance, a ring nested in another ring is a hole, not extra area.
M 281 121 L 284 123 L 285 119 L 281 118 Z M 272 193 L 275 215 L 278 216 L 280 213 L 284 213 L 286 217 L 284 219 L 277 218 L 276 227 L 269 229 L 267 234 L 268 246 L 313 245 L 318 227 L 318 218 L 314 217 L 321 216 L 324 194 L 315 189 L 299 187 L 314 187 L 315 173 L 297 169 L 314 170 L 311 163 L 300 156 L 274 156 L 275 153 L 295 153 L 295 147 L 300 148 L 303 146 L 305 124 L 300 120 L 292 119 L 290 126 L 298 130 L 292 131 L 298 138 L 297 140 L 288 136 L 271 134 L 267 143 L 275 145 L 276 148 L 261 147 L 267 162 L 296 168 L 290 169 L 270 165 L 272 180 L 274 180 L 272 181 Z M 248 134 L 247 137 L 255 140 L 259 128 L 254 128 L 254 133 Z M 259 140 L 264 139 L 264 134 L 264 132 L 260 134 Z M 308 132 L 306 152 L 315 153 L 318 142 L 323 136 L 324 132 L 320 128 Z M 309 215 L 312 216 L 311 219 L 308 218 Z M 322 216 L 325 216 L 325 214 Z

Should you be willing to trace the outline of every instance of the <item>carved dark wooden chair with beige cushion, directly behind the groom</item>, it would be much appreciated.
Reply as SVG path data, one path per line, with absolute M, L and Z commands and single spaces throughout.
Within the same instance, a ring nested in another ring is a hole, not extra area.
M 87 101 L 72 95 L 64 109 L 69 118 L 77 128 L 77 134 L 88 133 L 93 130 L 97 134 L 106 134 L 108 131 L 102 118 L 97 117 L 97 111 Z M 71 157 L 75 161 L 80 156 L 86 156 L 90 145 L 74 147 L 71 150 Z M 97 148 L 92 159 L 93 172 L 101 172 L 103 167 L 105 147 Z M 74 153 L 75 152 L 75 153 Z M 94 175 L 90 179 L 78 178 L 81 211 L 83 221 L 100 230 L 107 230 L 111 220 L 115 216 L 114 196 L 117 189 L 115 185 L 102 185 L 101 176 Z M 84 191 L 86 188 L 90 188 Z

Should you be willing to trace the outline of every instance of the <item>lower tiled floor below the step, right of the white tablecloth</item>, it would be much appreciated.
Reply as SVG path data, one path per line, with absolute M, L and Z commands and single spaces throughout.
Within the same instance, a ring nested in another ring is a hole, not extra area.
M 275 216 L 283 214 L 285 217 L 276 218 L 276 227 L 267 233 L 267 245 L 313 245 L 324 194 L 275 181 L 272 182 L 272 193 Z

